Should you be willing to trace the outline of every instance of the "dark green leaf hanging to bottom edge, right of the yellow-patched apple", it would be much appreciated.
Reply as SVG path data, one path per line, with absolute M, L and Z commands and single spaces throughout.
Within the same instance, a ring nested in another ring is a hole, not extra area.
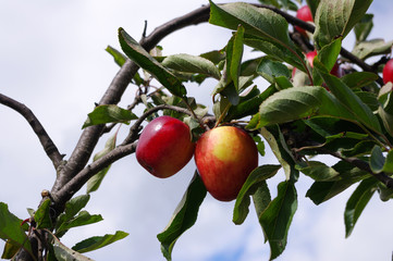
M 297 192 L 291 181 L 278 186 L 278 196 L 259 216 L 265 238 L 270 245 L 270 260 L 279 257 L 286 247 L 287 232 L 297 209 Z

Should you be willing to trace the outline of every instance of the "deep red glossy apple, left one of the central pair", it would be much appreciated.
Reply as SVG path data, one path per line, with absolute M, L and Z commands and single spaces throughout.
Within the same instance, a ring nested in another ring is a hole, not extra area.
M 164 178 L 182 170 L 193 158 L 194 149 L 188 125 L 171 116 L 159 116 L 142 132 L 136 159 L 149 173 Z

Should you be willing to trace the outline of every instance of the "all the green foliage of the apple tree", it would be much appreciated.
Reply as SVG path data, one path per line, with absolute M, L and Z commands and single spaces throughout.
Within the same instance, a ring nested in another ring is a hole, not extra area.
M 291 0 L 259 2 L 275 9 L 210 1 L 209 23 L 230 29 L 233 35 L 221 50 L 200 55 L 162 57 L 161 48 L 155 49 L 156 55 L 123 28 L 119 29 L 124 53 L 112 47 L 107 51 L 121 66 L 125 66 L 127 59 L 134 61 L 145 77 L 139 72 L 128 80 L 138 89 L 134 103 L 126 109 L 99 104 L 88 114 L 83 128 L 102 126 L 101 132 L 103 127 L 111 132 L 116 124 L 133 122 L 134 125 L 123 144 L 116 146 L 114 133 L 105 149 L 96 154 L 91 166 L 97 166 L 97 171 L 81 179 L 79 187 L 87 183 L 86 195 L 69 198 L 58 215 L 51 214 L 53 200 L 50 197 L 45 198 L 36 211 L 30 211 L 29 231 L 41 231 L 49 238 L 48 260 L 87 260 L 82 252 L 127 236 L 116 232 L 93 237 L 72 249 L 60 243 L 69 229 L 102 220 L 101 215 L 83 210 L 90 194 L 99 189 L 111 163 L 134 152 L 132 145 L 137 140 L 140 124 L 158 116 L 161 110 L 163 114 L 186 122 L 195 139 L 208 127 L 231 124 L 253 134 L 261 156 L 265 154 L 263 140 L 268 144 L 280 165 L 260 165 L 250 173 L 236 199 L 233 222 L 242 224 L 253 202 L 265 240 L 270 246 L 271 260 L 285 250 L 291 222 L 298 208 L 296 182 L 300 174 L 315 181 L 307 190 L 307 197 L 315 204 L 356 186 L 344 211 L 346 236 L 353 232 L 373 194 L 378 192 L 384 201 L 393 197 L 392 84 L 382 85 L 379 72 L 365 62 L 379 57 L 383 61 L 393 41 L 367 38 L 372 28 L 373 16 L 366 14 L 371 0 L 307 1 L 314 14 L 315 32 L 308 36 L 310 38 L 302 36 L 302 40 L 318 50 L 312 66 L 304 54 L 311 49 L 293 40 L 293 35 L 298 33 L 290 27 L 294 17 L 286 13 L 297 10 L 298 3 Z M 356 34 L 355 47 L 352 53 L 343 52 L 342 40 L 352 30 Z M 244 46 L 251 47 L 258 57 L 243 61 Z M 337 59 L 340 66 L 345 63 L 345 75 L 341 78 L 330 74 Z M 294 67 L 296 73 L 291 74 Z M 213 115 L 208 114 L 209 104 L 198 103 L 196 98 L 187 96 L 186 89 L 187 83 L 201 84 L 208 77 L 217 80 L 211 89 Z M 153 78 L 161 88 L 151 88 Z M 263 78 L 268 87 L 256 86 L 257 78 Z M 139 103 L 146 110 L 138 116 L 132 111 Z M 123 152 L 125 148 L 131 150 Z M 337 162 L 329 166 L 311 161 L 316 154 L 331 154 Z M 281 167 L 285 178 L 278 186 L 278 196 L 271 199 L 267 184 Z M 196 222 L 206 194 L 195 172 L 169 225 L 157 236 L 167 260 L 172 259 L 180 236 Z M 7 240 L 2 257 L 10 259 L 21 248 L 34 257 L 21 220 L 8 211 L 5 203 L 0 203 L 0 236 Z

